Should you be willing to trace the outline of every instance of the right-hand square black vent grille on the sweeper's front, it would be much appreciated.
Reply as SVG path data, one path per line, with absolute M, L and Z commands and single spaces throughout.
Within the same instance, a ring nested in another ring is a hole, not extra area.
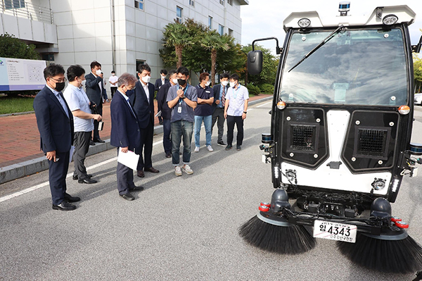
M 385 156 L 388 130 L 359 129 L 357 154 L 366 156 Z

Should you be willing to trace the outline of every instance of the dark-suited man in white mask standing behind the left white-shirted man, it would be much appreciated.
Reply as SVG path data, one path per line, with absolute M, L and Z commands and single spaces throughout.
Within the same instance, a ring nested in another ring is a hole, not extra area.
M 91 73 L 85 75 L 85 92 L 89 101 L 96 104 L 97 113 L 103 115 L 103 78 L 101 78 L 101 64 L 98 61 L 91 63 Z M 94 120 L 93 142 L 104 142 L 98 132 L 98 121 Z

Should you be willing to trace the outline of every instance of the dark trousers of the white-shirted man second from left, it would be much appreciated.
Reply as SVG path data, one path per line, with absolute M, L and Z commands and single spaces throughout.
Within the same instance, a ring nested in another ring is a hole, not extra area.
M 73 154 L 73 163 L 75 171 L 73 175 L 77 175 L 79 180 L 87 178 L 87 168 L 85 168 L 85 157 L 89 150 L 89 141 L 91 140 L 91 132 L 75 132 L 73 134 L 73 142 L 75 152 Z

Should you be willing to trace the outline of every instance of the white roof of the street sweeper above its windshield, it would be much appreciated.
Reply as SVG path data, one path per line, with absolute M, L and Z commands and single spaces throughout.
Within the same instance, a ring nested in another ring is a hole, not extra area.
M 381 11 L 380 15 L 377 15 L 377 10 Z M 416 13 L 407 5 L 376 7 L 373 9 L 371 15 L 340 16 L 339 12 L 332 17 L 320 17 L 317 11 L 295 12 L 290 13 L 290 15 L 288 15 L 288 17 L 283 21 L 283 29 L 287 32 L 290 28 L 300 28 L 298 21 L 302 18 L 308 18 L 311 20 L 310 27 L 383 25 L 383 18 L 385 15 L 390 14 L 397 15 L 397 18 L 399 18 L 397 23 L 407 23 L 408 25 L 411 25 L 411 23 L 414 22 L 416 16 Z

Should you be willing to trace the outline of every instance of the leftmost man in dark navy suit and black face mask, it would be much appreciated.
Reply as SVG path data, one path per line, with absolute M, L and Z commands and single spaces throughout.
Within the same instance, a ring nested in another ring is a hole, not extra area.
M 63 66 L 52 64 L 44 69 L 46 87 L 34 99 L 34 111 L 41 138 L 41 150 L 49 160 L 49 184 L 53 209 L 75 210 L 70 202 L 79 197 L 66 193 L 70 147 L 73 144 L 73 115 L 61 91 L 65 88 Z

